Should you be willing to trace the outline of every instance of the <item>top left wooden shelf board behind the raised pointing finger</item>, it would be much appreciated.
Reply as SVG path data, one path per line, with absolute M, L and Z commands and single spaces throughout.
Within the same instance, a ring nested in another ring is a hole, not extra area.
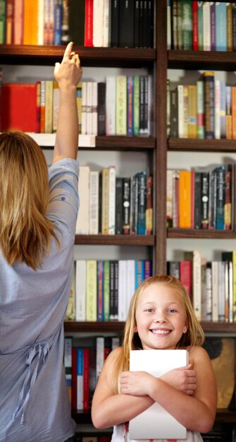
M 78 47 L 82 66 L 151 66 L 156 60 L 155 49 L 123 47 Z M 39 64 L 54 66 L 61 61 L 65 46 L 37 46 L 29 44 L 1 44 L 2 64 Z

